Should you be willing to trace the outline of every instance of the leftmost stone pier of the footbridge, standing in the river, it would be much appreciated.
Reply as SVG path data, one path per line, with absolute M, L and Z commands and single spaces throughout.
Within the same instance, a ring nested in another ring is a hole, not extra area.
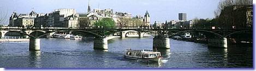
M 40 39 L 39 38 L 29 38 L 29 50 L 37 51 L 40 50 Z

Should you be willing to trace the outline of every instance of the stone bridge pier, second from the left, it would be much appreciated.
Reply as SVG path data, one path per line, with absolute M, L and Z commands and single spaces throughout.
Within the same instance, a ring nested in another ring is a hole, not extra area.
M 93 49 L 108 50 L 107 38 L 94 38 Z

